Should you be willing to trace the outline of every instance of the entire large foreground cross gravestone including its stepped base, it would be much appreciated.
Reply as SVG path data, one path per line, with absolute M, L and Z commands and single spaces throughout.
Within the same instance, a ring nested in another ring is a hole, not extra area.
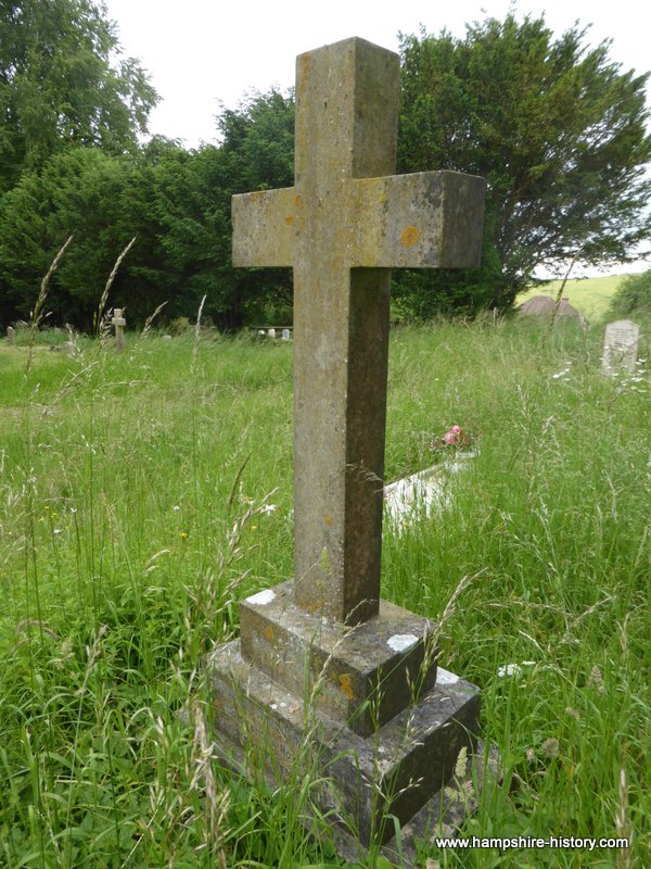
M 480 705 L 437 684 L 434 626 L 380 600 L 390 269 L 478 265 L 485 191 L 391 175 L 398 76 L 357 38 L 299 55 L 295 185 L 232 202 L 233 265 L 294 269 L 295 571 L 210 656 L 217 743 L 244 768 L 257 746 L 270 781 L 318 757 L 344 853 L 434 805 Z

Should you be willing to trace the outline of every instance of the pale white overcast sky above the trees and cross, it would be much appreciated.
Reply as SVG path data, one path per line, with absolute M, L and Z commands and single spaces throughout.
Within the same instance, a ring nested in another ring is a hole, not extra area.
M 398 50 L 398 33 L 420 25 L 463 36 L 468 22 L 503 18 L 508 0 L 105 0 L 128 56 L 139 58 L 162 98 L 150 131 L 194 148 L 216 139 L 219 103 L 237 106 L 252 89 L 294 84 L 297 54 L 359 36 Z M 648 0 L 521 0 L 519 17 L 545 13 L 560 35 L 575 21 L 591 24 L 587 41 L 612 39 L 611 56 L 625 68 L 651 67 Z M 651 101 L 651 91 L 650 91 Z

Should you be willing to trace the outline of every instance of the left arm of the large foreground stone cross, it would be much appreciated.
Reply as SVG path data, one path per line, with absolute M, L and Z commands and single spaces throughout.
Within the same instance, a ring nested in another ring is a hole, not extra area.
M 301 197 L 294 187 L 232 198 L 233 265 L 290 266 Z

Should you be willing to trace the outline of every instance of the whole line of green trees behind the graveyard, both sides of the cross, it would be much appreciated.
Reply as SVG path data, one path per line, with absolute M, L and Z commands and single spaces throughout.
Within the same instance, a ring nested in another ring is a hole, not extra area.
M 116 64 L 114 26 L 90 0 L 0 0 L 0 318 L 26 317 L 51 281 L 58 322 L 88 327 L 111 290 L 130 323 L 167 317 L 221 328 L 291 317 L 290 269 L 234 269 L 233 193 L 293 184 L 294 100 L 276 90 L 225 109 L 220 142 L 138 143 L 155 95 Z M 483 263 L 396 270 L 408 316 L 508 310 L 539 266 L 625 263 L 648 240 L 651 159 L 646 75 L 623 71 L 578 26 L 554 38 L 513 14 L 401 37 L 398 171 L 456 169 L 488 181 Z

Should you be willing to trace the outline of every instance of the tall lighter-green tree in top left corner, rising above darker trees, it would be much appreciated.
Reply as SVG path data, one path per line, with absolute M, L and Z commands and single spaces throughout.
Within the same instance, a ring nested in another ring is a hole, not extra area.
M 0 192 L 69 147 L 135 151 L 157 97 L 91 0 L 0 0 Z

